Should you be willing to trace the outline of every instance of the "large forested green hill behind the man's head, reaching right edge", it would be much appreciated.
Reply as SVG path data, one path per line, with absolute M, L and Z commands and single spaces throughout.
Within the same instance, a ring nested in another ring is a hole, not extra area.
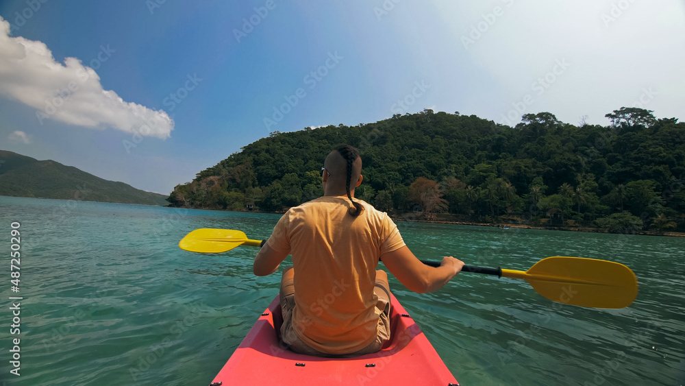
M 549 112 L 511 128 L 475 117 L 396 114 L 357 126 L 273 132 L 178 185 L 174 206 L 279 211 L 321 195 L 328 152 L 362 152 L 356 196 L 390 213 L 469 221 L 685 229 L 685 123 L 621 108 L 609 125 Z

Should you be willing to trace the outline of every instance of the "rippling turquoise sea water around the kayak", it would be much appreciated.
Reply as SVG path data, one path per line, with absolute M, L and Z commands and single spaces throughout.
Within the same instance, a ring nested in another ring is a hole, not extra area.
M 269 236 L 278 215 L 0 197 L 4 385 L 208 385 L 277 293 L 253 248 L 192 254 L 197 228 Z M 10 291 L 10 224 L 21 282 Z M 547 256 L 630 266 L 632 306 L 549 302 L 523 280 L 460 274 L 435 293 L 390 285 L 462 385 L 685 384 L 685 239 L 398 222 L 420 258 L 527 269 Z M 10 335 L 10 296 L 22 296 Z M 21 376 L 10 374 L 21 338 Z M 277 382 L 269 382 L 277 384 Z M 0 383 L 0 385 L 3 385 Z M 3 385 L 3 386 L 4 386 Z

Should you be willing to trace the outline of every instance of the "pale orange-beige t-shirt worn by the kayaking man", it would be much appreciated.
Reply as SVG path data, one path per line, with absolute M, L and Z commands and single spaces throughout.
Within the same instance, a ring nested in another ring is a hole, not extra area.
M 373 293 L 379 256 L 406 245 L 384 212 L 362 200 L 352 217 L 346 196 L 325 196 L 290 208 L 267 241 L 290 252 L 295 268 L 292 326 L 308 346 L 348 354 L 377 335 Z

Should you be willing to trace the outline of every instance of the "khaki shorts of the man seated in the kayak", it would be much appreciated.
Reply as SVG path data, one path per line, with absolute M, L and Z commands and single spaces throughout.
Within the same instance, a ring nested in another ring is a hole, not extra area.
M 292 310 L 295 309 L 295 285 L 293 284 L 292 268 L 283 272 L 281 279 L 281 311 L 283 313 L 283 325 L 281 326 L 281 339 L 289 346 L 290 350 L 300 354 L 312 355 L 314 357 L 357 357 L 358 355 L 371 354 L 378 352 L 383 343 L 390 339 L 390 285 L 388 285 L 388 275 L 381 270 L 376 271 L 376 283 L 373 292 L 378 297 L 375 312 L 378 318 L 378 334 L 376 339 L 369 346 L 362 348 L 351 354 L 327 354 L 314 350 L 307 343 L 304 343 L 294 328 L 292 328 Z

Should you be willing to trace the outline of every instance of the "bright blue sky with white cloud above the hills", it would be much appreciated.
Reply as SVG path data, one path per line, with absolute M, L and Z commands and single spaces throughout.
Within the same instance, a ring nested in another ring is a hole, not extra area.
M 424 108 L 685 119 L 678 0 L 5 0 L 0 17 L 0 149 L 158 193 L 275 130 Z

